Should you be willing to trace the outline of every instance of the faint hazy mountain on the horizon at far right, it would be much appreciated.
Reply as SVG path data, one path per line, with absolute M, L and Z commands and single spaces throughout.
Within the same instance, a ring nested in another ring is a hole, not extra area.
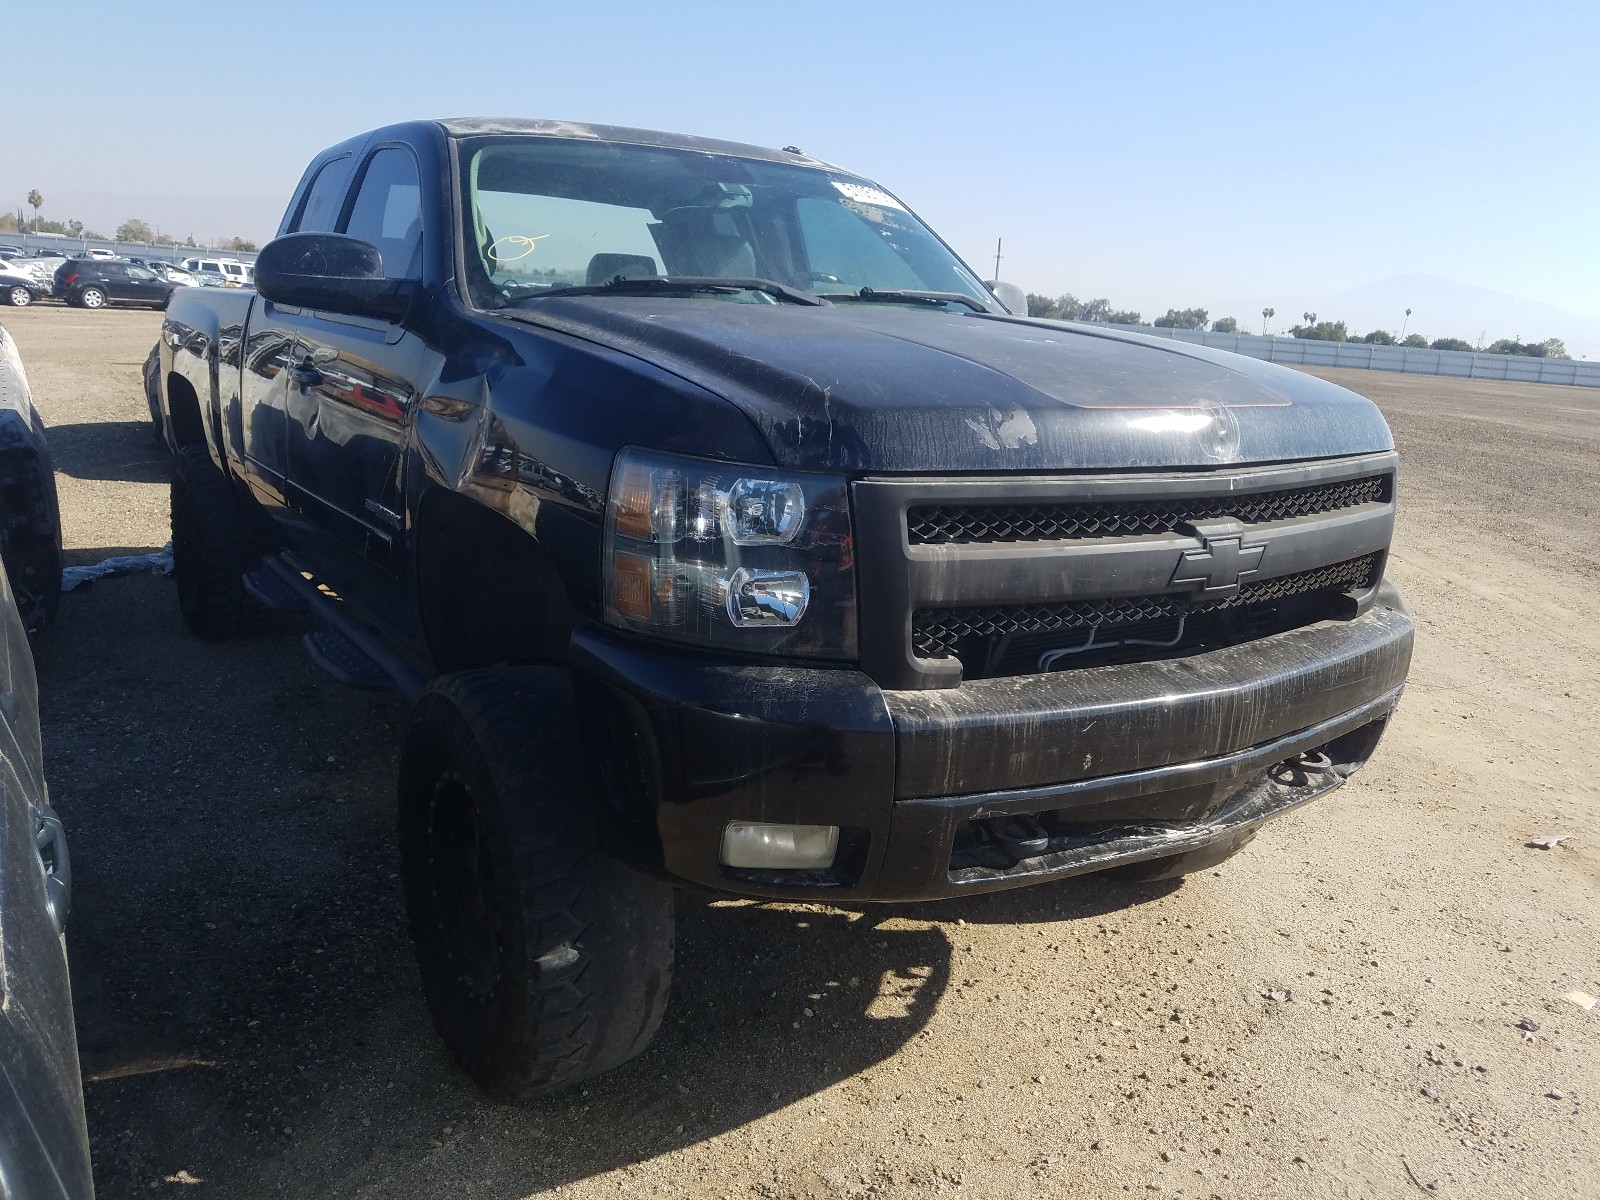
M 1288 296 L 1274 307 L 1278 310 L 1274 330 L 1286 330 L 1301 322 L 1302 312 L 1315 312 L 1317 320 L 1344 322 L 1352 338 L 1370 330 L 1398 334 L 1403 323 L 1406 333 L 1429 339 L 1464 338 L 1477 344 L 1482 336 L 1485 346 L 1499 338 L 1525 342 L 1560 338 L 1573 358 L 1600 358 L 1600 317 L 1437 275 L 1395 275 L 1338 296 Z M 1406 309 L 1411 309 L 1410 322 Z M 1250 328 L 1248 320 L 1242 325 Z

